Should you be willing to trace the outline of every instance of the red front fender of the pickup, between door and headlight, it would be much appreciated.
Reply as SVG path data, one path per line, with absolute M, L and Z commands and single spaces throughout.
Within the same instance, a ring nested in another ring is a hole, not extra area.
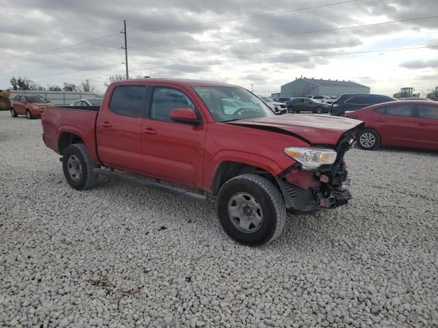
M 233 161 L 260 167 L 276 176 L 296 163 L 284 154 L 289 146 L 309 144 L 291 135 L 226 123 L 210 123 L 205 140 L 204 187 L 211 192 L 220 163 Z

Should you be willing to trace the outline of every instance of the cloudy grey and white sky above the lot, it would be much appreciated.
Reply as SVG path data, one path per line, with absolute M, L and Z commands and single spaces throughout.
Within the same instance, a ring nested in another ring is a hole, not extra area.
M 44 86 L 89 79 L 105 92 L 110 75 L 125 74 L 123 20 L 130 78 L 221 81 L 261 95 L 301 76 L 387 95 L 438 86 L 437 0 L 0 0 L 0 8 L 0 89 L 27 77 Z M 388 23 L 396 20 L 404 21 Z

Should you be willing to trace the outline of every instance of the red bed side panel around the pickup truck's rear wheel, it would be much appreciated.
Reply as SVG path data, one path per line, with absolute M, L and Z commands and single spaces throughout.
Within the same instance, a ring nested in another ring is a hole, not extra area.
M 83 140 L 94 163 L 100 163 L 96 152 L 95 124 L 98 113 L 78 109 L 48 107 L 43 114 L 44 142 L 58 154 L 62 133 L 73 133 Z

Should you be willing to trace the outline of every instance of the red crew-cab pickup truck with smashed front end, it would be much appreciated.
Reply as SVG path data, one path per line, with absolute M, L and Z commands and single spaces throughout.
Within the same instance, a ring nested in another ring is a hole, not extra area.
M 237 109 L 224 106 L 230 100 Z M 47 108 L 42 126 L 71 187 L 89 189 L 103 174 L 198 200 L 216 195 L 227 234 L 263 245 L 281 234 L 287 209 L 348 202 L 344 153 L 363 123 L 277 116 L 235 85 L 142 79 L 112 83 L 100 107 Z

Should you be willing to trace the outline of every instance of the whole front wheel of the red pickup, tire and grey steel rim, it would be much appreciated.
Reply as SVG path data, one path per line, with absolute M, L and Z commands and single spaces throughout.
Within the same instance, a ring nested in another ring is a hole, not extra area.
M 218 193 L 216 211 L 225 232 L 243 245 L 270 243 L 285 227 L 286 208 L 279 190 L 254 174 L 225 182 Z

